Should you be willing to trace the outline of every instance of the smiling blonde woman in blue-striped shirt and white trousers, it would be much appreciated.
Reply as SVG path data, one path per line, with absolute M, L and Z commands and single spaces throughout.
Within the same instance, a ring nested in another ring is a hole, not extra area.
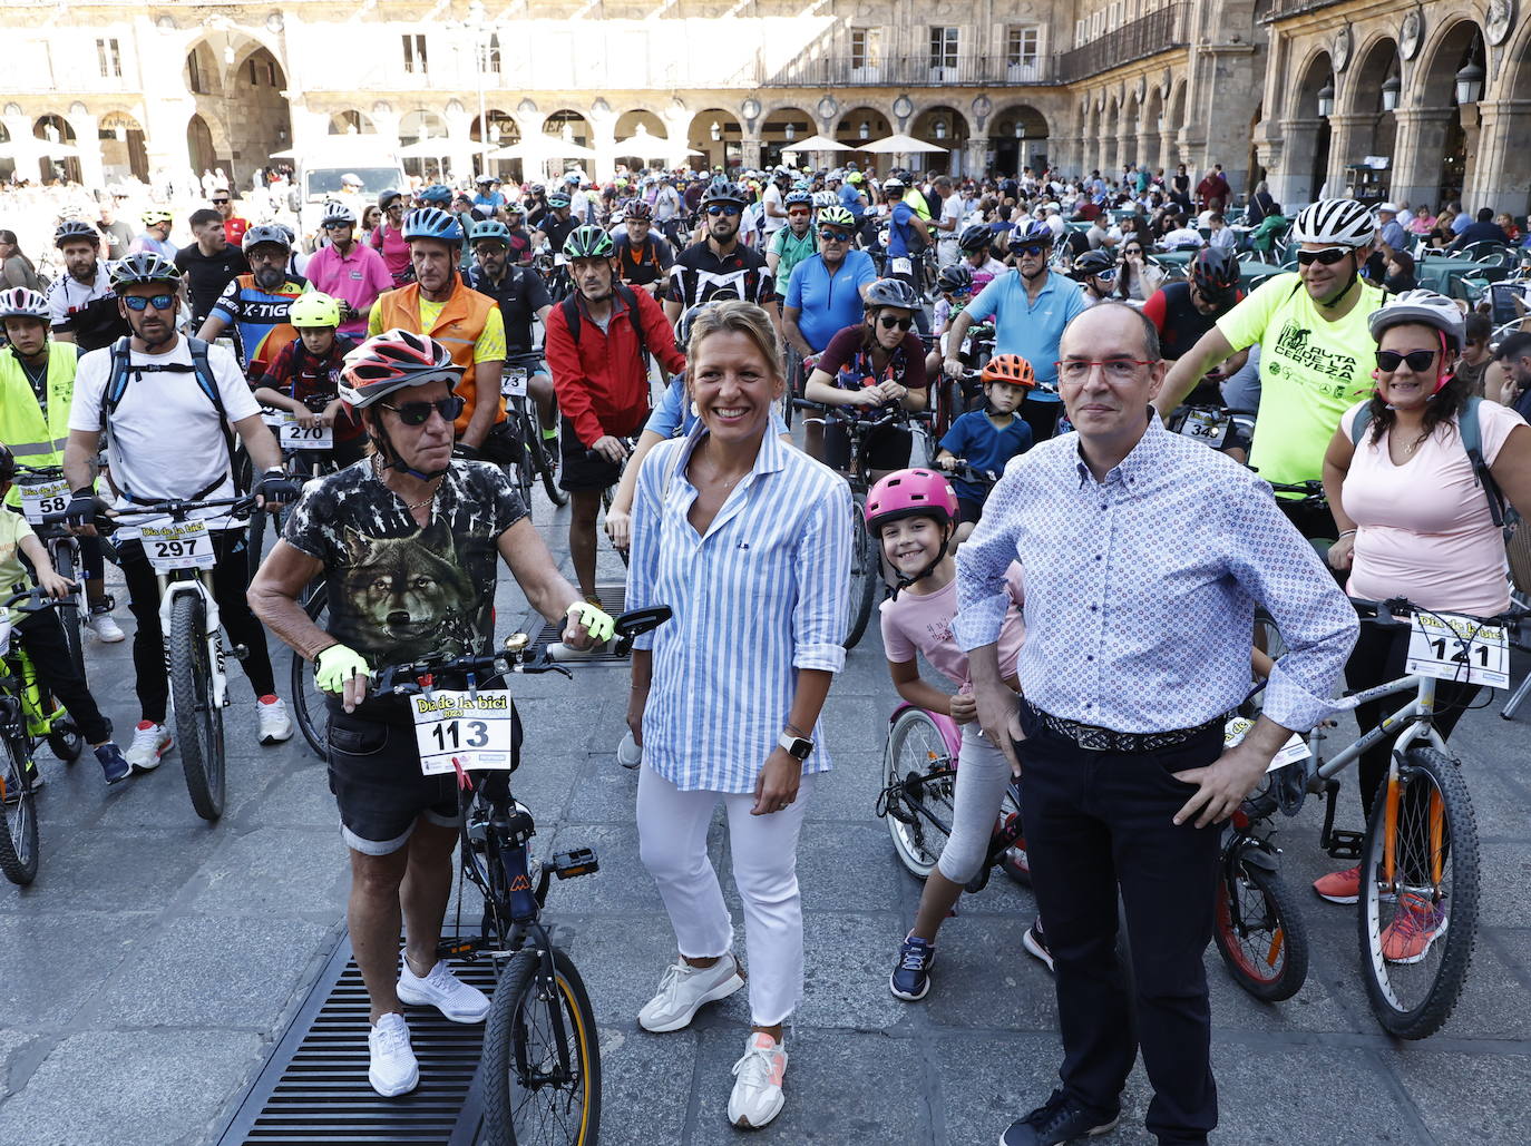
M 628 725 L 643 745 L 640 852 L 680 947 L 638 1024 L 681 1030 L 744 985 L 707 858 L 721 802 L 752 1014 L 729 1122 L 758 1128 L 781 1112 L 782 1024 L 802 995 L 798 832 L 830 767 L 818 719 L 845 664 L 851 497 L 833 470 L 770 433 L 785 376 L 761 308 L 707 308 L 686 361 L 700 421 L 643 461 L 632 506 L 628 607 L 675 610 L 638 638 Z

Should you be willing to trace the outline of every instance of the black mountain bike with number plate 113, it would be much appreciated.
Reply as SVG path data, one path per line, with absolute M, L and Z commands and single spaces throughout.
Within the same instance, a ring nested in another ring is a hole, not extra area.
M 615 621 L 619 647 L 663 624 L 668 607 L 640 609 Z M 438 958 L 487 958 L 496 987 L 484 1028 L 476 1085 L 484 1099 L 482 1137 L 491 1146 L 566 1141 L 594 1146 L 600 1134 L 600 1040 L 585 982 L 542 921 L 553 877 L 570 880 L 600 871 L 591 848 L 574 848 L 545 863 L 530 855 L 536 835 L 531 811 L 511 796 L 516 768 L 513 708 L 505 692 L 481 690 L 511 673 L 570 670 L 530 652 L 514 633 L 487 656 L 430 658 L 386 669 L 378 695 L 410 701 L 423 763 L 441 756 L 455 770 L 464 809 L 461 881 L 484 895 L 478 933 L 464 932 L 458 895 L 456 936 L 442 938 Z M 449 690 L 447 682 L 458 684 Z M 502 716 L 501 716 L 502 715 Z M 490 730 L 496 727 L 496 731 Z M 502 751 L 475 744 L 502 744 Z M 436 747 L 441 751 L 430 753 Z M 498 753 L 496 759 L 490 759 Z M 461 887 L 459 887 L 461 890 Z

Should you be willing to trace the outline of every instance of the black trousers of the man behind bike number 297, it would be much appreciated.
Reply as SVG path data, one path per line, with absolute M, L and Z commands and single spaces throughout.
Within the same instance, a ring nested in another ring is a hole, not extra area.
M 165 644 L 159 630 L 159 580 L 155 568 L 144 555 L 139 542 L 122 542 L 116 546 L 122 580 L 127 581 L 129 609 L 138 621 L 133 633 L 133 672 L 138 676 L 138 702 L 142 719 L 165 722 L 170 702 L 170 681 L 165 676 Z M 274 693 L 276 678 L 271 675 L 271 655 L 266 652 L 266 630 L 250 612 L 245 592 L 250 577 L 245 560 L 245 529 L 217 529 L 213 532 L 213 600 L 217 601 L 224 630 L 234 644 L 250 649 L 245 656 L 245 676 L 256 696 Z

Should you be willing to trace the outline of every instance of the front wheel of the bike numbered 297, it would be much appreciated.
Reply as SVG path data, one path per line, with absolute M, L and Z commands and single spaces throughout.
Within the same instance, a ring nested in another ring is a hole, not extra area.
M 178 594 L 170 607 L 170 695 L 191 806 L 211 823 L 224 814 L 224 711 L 213 701 L 207 606 L 199 594 Z

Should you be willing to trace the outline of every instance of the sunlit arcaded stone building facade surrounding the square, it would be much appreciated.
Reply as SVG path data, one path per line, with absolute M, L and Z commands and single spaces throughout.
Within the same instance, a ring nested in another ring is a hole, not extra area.
M 0 173 L 245 182 L 351 135 L 423 168 L 534 177 L 761 167 L 818 135 L 848 150 L 801 159 L 1220 162 L 1236 190 L 1263 176 L 1291 205 L 1360 181 L 1525 211 L 1517 2 L 12 0 Z M 1473 101 L 1458 99 L 1464 60 L 1484 72 Z M 862 150 L 893 133 L 940 150 Z M 1366 156 L 1390 161 L 1386 181 L 1353 170 Z

